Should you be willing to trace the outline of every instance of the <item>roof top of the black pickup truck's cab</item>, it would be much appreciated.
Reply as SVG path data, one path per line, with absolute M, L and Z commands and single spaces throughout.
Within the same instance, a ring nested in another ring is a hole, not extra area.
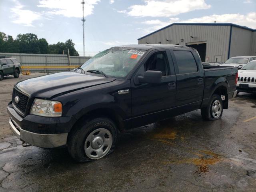
M 134 49 L 141 49 L 141 50 L 149 50 L 151 48 L 188 48 L 192 49 L 186 46 L 181 46 L 181 45 L 172 45 L 172 44 L 134 44 L 134 45 L 122 45 L 118 47 L 127 47 L 127 48 L 134 48 Z

